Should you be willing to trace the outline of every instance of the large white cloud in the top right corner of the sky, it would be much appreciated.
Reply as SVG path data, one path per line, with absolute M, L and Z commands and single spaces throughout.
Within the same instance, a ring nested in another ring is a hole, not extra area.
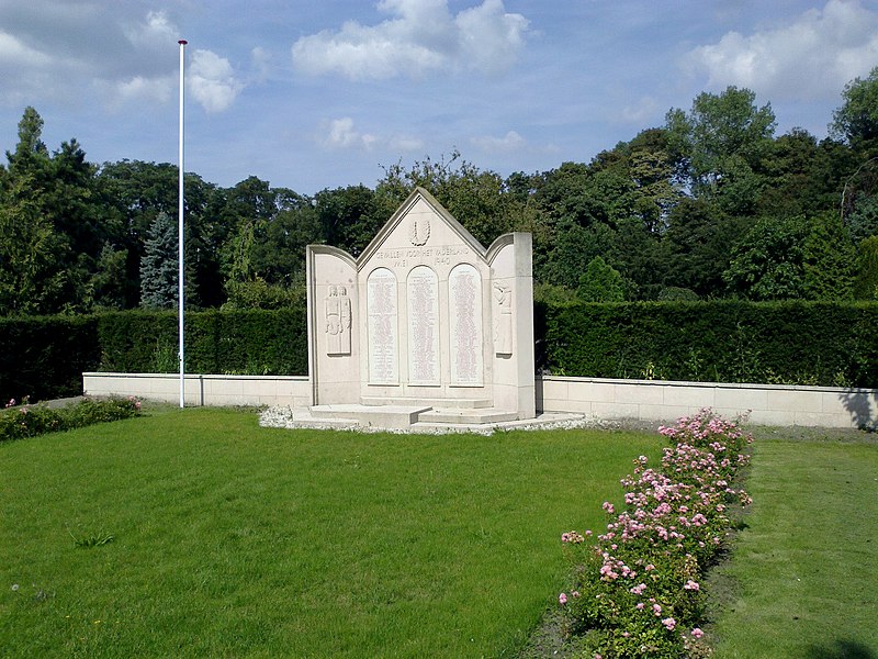
M 878 12 L 859 0 L 829 0 L 792 24 L 751 35 L 729 32 L 691 51 L 686 66 L 708 86 L 747 87 L 775 100 L 829 99 L 878 62 Z

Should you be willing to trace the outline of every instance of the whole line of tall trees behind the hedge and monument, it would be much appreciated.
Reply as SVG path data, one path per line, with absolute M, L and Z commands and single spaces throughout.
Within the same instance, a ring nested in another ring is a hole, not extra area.
M 289 306 L 305 245 L 359 254 L 414 186 L 485 245 L 531 232 L 543 300 L 874 300 L 876 99 L 878 67 L 846 86 L 819 141 L 776 135 L 770 105 L 730 87 L 590 163 L 507 178 L 459 153 L 313 196 L 187 174 L 187 303 Z M 98 166 L 76 139 L 49 153 L 42 129 L 25 109 L 0 167 L 0 315 L 175 306 L 176 166 Z

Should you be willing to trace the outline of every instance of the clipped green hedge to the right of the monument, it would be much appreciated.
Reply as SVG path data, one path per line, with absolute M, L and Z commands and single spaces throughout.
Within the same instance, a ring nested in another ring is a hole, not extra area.
M 537 306 L 540 366 L 596 378 L 878 387 L 878 304 Z

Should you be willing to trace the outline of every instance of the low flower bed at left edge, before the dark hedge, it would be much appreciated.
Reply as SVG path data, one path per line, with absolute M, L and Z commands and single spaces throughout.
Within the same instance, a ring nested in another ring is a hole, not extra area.
M 26 401 L 16 406 L 15 401 L 11 400 L 3 410 L 0 410 L 0 442 L 130 418 L 139 413 L 140 401 L 134 396 L 86 399 L 58 409 L 42 404 L 29 405 Z

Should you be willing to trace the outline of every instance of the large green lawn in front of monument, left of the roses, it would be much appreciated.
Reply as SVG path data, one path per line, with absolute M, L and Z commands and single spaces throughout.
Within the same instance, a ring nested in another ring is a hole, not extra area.
M 661 445 L 207 409 L 4 443 L 0 655 L 515 655 L 566 583 L 561 533 L 600 526 Z

